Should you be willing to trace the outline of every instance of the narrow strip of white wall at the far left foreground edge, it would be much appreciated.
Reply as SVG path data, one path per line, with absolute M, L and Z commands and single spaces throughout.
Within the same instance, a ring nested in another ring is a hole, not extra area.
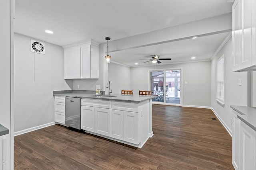
M 7 169 L 13 169 L 13 0 L 0 1 L 0 124 L 9 129 L 6 156 Z

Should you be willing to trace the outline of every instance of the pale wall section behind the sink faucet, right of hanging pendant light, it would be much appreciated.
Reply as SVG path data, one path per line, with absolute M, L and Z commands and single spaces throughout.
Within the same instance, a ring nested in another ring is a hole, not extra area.
M 108 64 L 108 80 L 112 93 L 121 94 L 121 90 L 132 90 L 131 88 L 131 68 L 120 64 Z M 106 91 L 108 94 L 108 90 Z

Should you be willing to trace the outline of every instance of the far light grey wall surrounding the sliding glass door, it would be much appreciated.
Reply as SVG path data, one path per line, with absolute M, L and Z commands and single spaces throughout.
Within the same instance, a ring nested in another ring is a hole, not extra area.
M 182 68 L 182 104 L 185 106 L 211 106 L 211 62 L 192 62 L 181 64 L 156 64 L 156 66 L 132 67 L 132 90 L 138 94 L 139 90 L 148 89 L 149 70 Z M 188 84 L 185 84 L 185 81 Z

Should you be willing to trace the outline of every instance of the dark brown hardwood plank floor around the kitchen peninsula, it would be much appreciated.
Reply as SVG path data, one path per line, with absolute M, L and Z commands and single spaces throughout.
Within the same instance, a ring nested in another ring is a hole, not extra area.
M 231 137 L 210 109 L 153 105 L 142 149 L 53 125 L 14 137 L 16 170 L 230 170 Z

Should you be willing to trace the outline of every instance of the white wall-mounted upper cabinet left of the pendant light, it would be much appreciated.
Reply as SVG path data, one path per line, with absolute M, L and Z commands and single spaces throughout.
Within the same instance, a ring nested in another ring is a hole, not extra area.
M 64 48 L 64 79 L 99 78 L 99 43 L 83 41 Z

